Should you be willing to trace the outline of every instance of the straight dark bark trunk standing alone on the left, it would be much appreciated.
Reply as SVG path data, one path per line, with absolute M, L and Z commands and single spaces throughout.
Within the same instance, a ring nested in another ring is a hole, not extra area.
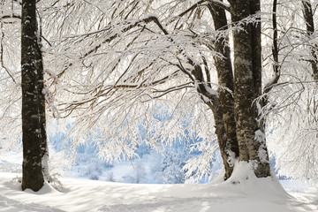
M 39 191 L 44 183 L 42 157 L 46 151 L 45 99 L 42 52 L 37 28 L 35 0 L 22 1 L 22 189 Z

